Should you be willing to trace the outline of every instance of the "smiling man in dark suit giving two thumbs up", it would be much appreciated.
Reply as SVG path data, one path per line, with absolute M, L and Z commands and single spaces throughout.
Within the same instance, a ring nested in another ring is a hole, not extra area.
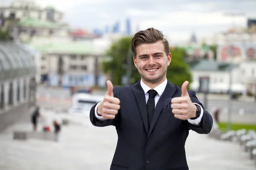
M 180 89 L 166 79 L 172 55 L 160 31 L 139 31 L 131 51 L 140 81 L 118 88 L 107 81 L 104 100 L 90 111 L 93 125 L 116 127 L 110 170 L 188 170 L 184 145 L 189 130 L 209 133 L 212 116 L 195 92 L 187 91 L 188 81 Z

